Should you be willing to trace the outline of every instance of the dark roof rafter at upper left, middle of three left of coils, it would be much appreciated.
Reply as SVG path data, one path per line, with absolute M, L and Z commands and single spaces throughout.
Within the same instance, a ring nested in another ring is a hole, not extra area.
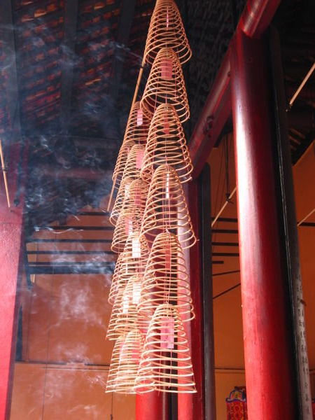
M 64 39 L 62 42 L 61 82 L 61 130 L 68 131 L 71 114 L 71 93 L 73 85 L 73 58 L 76 49 L 76 25 L 78 21 L 78 0 L 66 0 L 64 6 Z

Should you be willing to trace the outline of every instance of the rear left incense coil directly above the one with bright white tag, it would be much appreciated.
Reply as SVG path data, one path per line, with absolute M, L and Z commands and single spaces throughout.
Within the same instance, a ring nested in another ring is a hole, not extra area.
M 127 209 L 121 211 L 111 243 L 113 252 L 123 252 L 129 235 L 140 230 L 142 218 L 141 209 L 134 205 L 128 206 Z

